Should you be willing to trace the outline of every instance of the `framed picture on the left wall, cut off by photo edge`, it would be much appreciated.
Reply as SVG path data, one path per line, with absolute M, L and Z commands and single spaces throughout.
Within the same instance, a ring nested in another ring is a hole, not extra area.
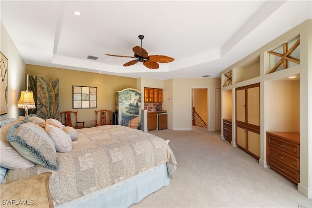
M 0 52 L 0 114 L 8 113 L 8 59 Z

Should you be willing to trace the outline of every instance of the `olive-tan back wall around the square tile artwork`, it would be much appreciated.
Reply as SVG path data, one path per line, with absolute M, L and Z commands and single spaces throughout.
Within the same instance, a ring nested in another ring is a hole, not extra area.
M 26 75 L 59 78 L 59 111 L 78 111 L 78 120 L 85 121 L 85 126 L 95 125 L 95 112 L 99 109 L 116 110 L 115 92 L 125 88 L 137 89 L 137 79 L 123 76 L 111 76 L 37 65 L 26 65 Z M 89 86 L 98 89 L 98 108 L 73 109 L 72 86 Z

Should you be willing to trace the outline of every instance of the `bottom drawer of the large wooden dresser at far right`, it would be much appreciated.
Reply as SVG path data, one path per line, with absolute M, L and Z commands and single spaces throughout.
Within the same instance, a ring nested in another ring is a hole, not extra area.
M 273 170 L 282 174 L 292 182 L 298 184 L 300 181 L 300 173 L 296 170 L 293 170 L 286 166 L 285 164 L 275 160 L 273 157 L 268 157 L 268 166 L 270 166 Z

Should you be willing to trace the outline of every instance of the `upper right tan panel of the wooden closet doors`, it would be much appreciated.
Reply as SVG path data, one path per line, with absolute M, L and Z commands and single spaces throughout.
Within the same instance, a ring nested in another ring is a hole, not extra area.
M 247 123 L 260 126 L 260 86 L 247 89 Z

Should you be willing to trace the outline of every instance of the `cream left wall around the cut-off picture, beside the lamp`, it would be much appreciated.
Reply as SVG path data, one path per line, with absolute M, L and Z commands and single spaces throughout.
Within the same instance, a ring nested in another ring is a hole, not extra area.
M 0 27 L 0 51 L 8 59 L 8 113 L 0 116 L 3 120 L 25 114 L 23 109 L 17 108 L 20 91 L 25 91 L 25 63 L 2 22 Z

